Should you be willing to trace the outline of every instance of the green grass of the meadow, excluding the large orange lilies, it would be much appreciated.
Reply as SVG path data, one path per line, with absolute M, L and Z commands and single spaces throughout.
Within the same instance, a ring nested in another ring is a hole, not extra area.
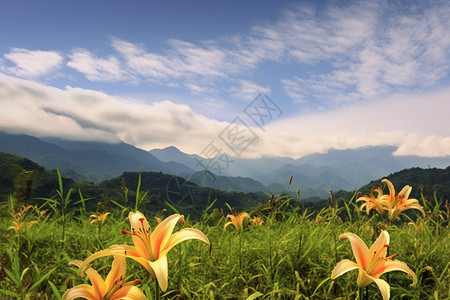
M 381 184 L 381 183 L 380 183 Z M 401 187 L 397 187 L 400 189 Z M 71 192 L 62 184 L 58 197 L 41 205 L 18 203 L 9 197 L 1 207 L 0 298 L 60 299 L 66 290 L 91 284 L 80 277 L 72 260 L 84 260 L 96 251 L 115 244 L 133 245 L 128 214 L 141 211 L 152 228 L 155 217 L 164 219 L 176 208 L 146 211 L 118 207 L 110 212 L 88 212 L 84 203 L 71 203 Z M 361 196 L 361 195 L 359 195 Z M 336 264 L 355 261 L 349 240 L 339 240 L 347 232 L 357 234 L 370 247 L 381 230 L 390 235 L 389 254 L 405 262 L 417 276 L 417 284 L 404 272 L 390 272 L 381 278 L 390 284 L 391 299 L 450 299 L 449 211 L 442 199 L 419 199 L 420 211 L 402 212 L 389 222 L 375 209 L 361 210 L 362 202 L 333 199 L 320 211 L 294 205 L 291 196 L 282 196 L 268 205 L 247 211 L 242 230 L 233 224 L 224 230 L 232 207 L 206 208 L 198 220 L 185 215 L 182 228 L 195 228 L 209 239 L 211 247 L 187 240 L 168 254 L 168 288 L 158 291 L 156 281 L 139 263 L 127 258 L 126 281 L 136 284 L 148 299 L 382 299 L 375 283 L 358 293 L 358 270 L 336 279 Z M 42 199 L 41 199 L 42 200 Z M 69 210 L 76 204 L 78 210 Z M 105 213 L 102 215 L 101 213 Z M 108 213 L 108 214 L 106 214 Z M 260 217 L 262 224 L 253 223 Z M 99 258 L 92 267 L 105 277 L 112 256 Z M 156 295 L 156 296 L 155 296 Z

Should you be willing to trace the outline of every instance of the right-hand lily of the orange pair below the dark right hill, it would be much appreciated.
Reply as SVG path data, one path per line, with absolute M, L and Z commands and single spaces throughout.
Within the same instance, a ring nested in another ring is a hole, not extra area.
M 389 195 L 384 195 L 383 201 L 389 210 L 390 221 L 397 220 L 398 215 L 407 209 L 420 210 L 423 216 L 425 216 L 425 211 L 419 204 L 419 201 L 417 199 L 408 199 L 412 187 L 406 185 L 397 195 L 395 195 L 394 185 L 388 179 L 383 179 L 382 181 L 386 183 L 389 188 Z

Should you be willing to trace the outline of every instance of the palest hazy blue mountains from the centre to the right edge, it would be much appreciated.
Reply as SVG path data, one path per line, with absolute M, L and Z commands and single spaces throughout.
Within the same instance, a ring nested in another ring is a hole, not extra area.
M 396 150 L 397 148 L 393 146 L 368 146 L 346 150 L 331 149 L 326 153 L 311 154 L 299 159 L 231 157 L 229 165 L 221 170 L 220 174 L 213 168 L 208 170 L 225 177 L 252 178 L 264 185 L 266 187 L 264 191 L 268 193 L 285 191 L 290 176 L 293 176 L 291 192 L 299 186 L 301 198 L 311 196 L 326 198 L 329 189 L 356 190 L 367 182 L 402 169 L 446 168 L 450 165 L 450 156 L 395 156 Z M 184 154 L 175 147 L 158 149 L 157 152 L 152 150 L 151 153 L 157 153 L 157 157 L 166 161 L 195 162 L 193 155 Z

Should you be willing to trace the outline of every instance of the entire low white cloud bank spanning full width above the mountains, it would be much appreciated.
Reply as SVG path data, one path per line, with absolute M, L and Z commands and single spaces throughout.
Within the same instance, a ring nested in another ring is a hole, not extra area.
M 291 156 L 366 145 L 395 145 L 398 155 L 450 155 L 449 89 L 396 96 L 332 112 L 273 119 L 253 126 L 256 140 L 242 157 Z M 229 155 L 220 136 L 230 123 L 166 100 L 145 104 L 81 88 L 58 89 L 0 75 L 0 130 L 38 137 L 124 141 L 150 150 L 169 145 L 199 154 L 211 142 Z M 247 125 L 251 121 L 239 116 Z

